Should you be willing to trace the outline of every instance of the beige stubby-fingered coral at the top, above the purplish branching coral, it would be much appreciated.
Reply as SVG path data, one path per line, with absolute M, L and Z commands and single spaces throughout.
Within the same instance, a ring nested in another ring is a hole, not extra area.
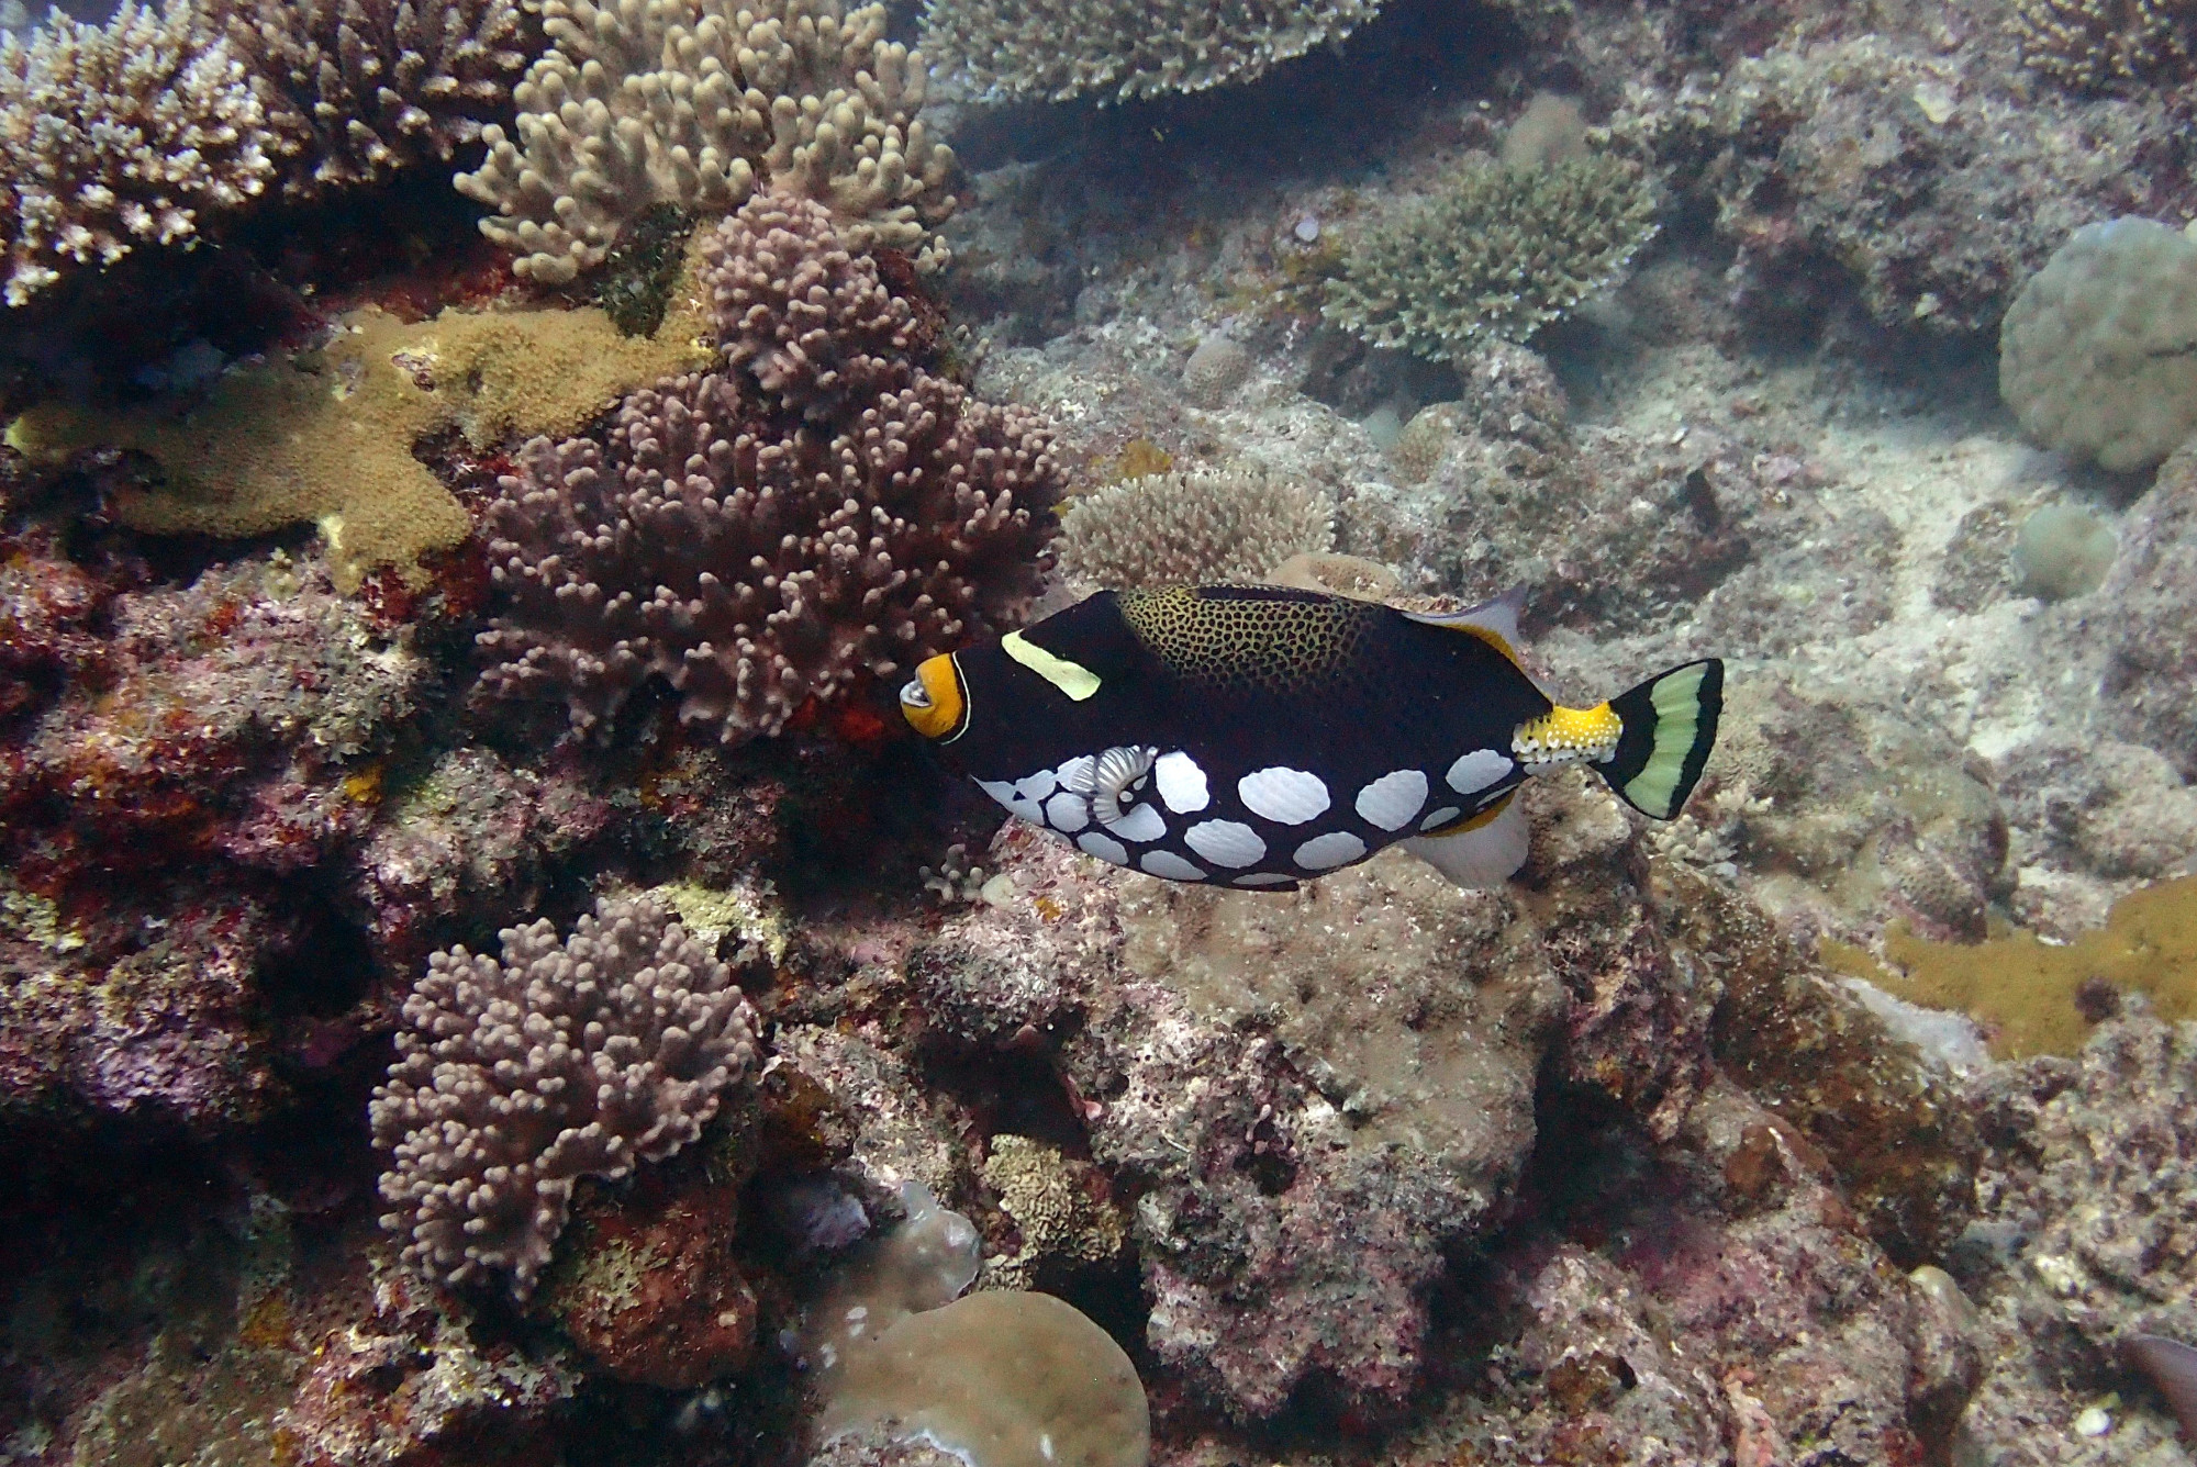
M 602 264 L 655 204 L 738 206 L 762 182 L 833 209 L 857 250 L 938 264 L 953 154 L 932 143 L 923 57 L 885 40 L 885 7 L 837 0 L 547 0 L 551 48 L 512 90 L 518 141 L 457 189 L 518 275 L 560 285 Z

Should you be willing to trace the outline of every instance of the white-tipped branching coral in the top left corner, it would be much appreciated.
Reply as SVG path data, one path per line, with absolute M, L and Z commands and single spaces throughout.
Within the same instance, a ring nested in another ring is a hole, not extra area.
M 191 0 L 55 15 L 0 40 L 7 301 L 141 244 L 196 244 L 204 215 L 257 198 L 279 138 L 244 61 Z

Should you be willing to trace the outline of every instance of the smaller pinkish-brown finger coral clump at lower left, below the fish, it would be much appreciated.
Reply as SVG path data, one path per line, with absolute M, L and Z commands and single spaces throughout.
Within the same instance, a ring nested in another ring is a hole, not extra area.
M 369 1113 L 404 1258 L 450 1285 L 508 1274 L 523 1300 L 580 1177 L 701 1135 L 754 1070 L 756 1010 L 648 898 L 600 903 L 562 942 L 547 920 L 501 938 L 503 962 L 428 960 Z

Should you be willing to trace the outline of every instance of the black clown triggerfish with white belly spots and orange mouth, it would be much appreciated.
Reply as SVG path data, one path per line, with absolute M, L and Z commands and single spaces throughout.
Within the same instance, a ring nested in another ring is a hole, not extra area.
M 901 690 L 984 793 L 1114 865 L 1292 889 L 1402 841 L 1459 885 L 1527 854 L 1512 795 L 1588 764 L 1670 819 L 1716 742 L 1725 665 L 1558 707 L 1518 665 L 1520 593 L 1459 615 L 1283 586 L 1101 591 Z

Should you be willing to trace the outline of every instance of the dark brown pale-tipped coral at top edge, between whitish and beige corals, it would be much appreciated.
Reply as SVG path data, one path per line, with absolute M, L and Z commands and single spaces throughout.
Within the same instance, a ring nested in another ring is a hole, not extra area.
M 266 81 L 290 193 L 448 163 L 510 112 L 538 48 L 516 0 L 211 0 L 207 20 Z

